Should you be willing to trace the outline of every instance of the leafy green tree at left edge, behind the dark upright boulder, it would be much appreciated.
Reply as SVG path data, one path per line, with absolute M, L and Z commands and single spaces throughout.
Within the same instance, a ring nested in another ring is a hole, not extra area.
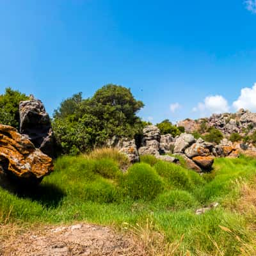
M 28 96 L 10 87 L 5 89 L 5 93 L 0 95 L 0 124 L 19 129 L 19 103 L 22 100 L 28 100 Z

